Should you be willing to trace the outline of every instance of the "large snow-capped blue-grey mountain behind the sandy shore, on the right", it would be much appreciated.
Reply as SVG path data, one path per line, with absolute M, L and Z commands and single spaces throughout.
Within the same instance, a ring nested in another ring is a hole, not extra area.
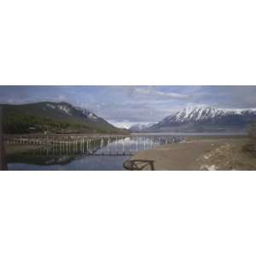
M 173 113 L 144 131 L 243 132 L 256 122 L 256 108 L 227 109 L 198 106 Z

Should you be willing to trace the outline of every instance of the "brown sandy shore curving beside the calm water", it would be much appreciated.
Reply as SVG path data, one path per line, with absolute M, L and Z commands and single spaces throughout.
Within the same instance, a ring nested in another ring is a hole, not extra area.
M 247 138 L 191 138 L 138 152 L 128 170 L 256 170 L 256 159 L 242 150 Z

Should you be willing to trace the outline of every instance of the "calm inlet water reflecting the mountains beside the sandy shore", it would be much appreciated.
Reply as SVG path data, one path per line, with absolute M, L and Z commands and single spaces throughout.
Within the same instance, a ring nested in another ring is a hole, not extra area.
M 125 170 L 123 163 L 132 154 L 181 138 L 133 136 L 82 140 L 77 143 L 49 144 L 37 150 L 8 155 L 9 170 Z

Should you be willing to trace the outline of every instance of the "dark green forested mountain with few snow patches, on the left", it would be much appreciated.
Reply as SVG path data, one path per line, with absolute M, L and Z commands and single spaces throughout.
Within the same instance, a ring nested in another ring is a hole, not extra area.
M 124 133 L 85 108 L 67 102 L 38 102 L 1 105 L 4 133 L 26 132 L 99 132 Z

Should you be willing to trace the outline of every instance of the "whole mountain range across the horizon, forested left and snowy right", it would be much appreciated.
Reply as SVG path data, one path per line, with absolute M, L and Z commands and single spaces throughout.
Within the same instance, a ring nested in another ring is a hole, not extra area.
M 127 133 L 85 108 L 67 102 L 0 105 L 3 132 Z M 156 124 L 132 125 L 131 132 L 245 132 L 256 123 L 256 108 L 183 108 Z

